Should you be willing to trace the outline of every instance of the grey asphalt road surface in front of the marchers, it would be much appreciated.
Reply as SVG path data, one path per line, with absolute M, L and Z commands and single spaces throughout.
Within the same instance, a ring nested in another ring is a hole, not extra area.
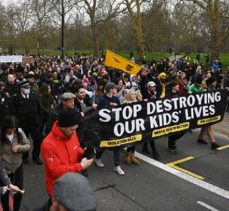
M 161 153 L 161 164 L 167 164 L 189 156 L 191 161 L 179 167 L 203 176 L 211 183 L 226 191 L 229 190 L 229 148 L 212 151 L 210 146 L 196 143 L 198 130 L 187 133 L 178 142 L 178 154 L 171 155 L 167 150 L 166 138 L 156 140 Z M 221 145 L 228 145 L 229 139 L 217 134 Z M 141 146 L 138 146 L 140 151 Z M 141 161 L 139 166 L 123 164 L 125 176 L 112 172 L 112 153 L 103 157 L 105 167 L 92 166 L 89 170 L 89 182 L 96 192 L 98 210 L 207 210 L 212 206 L 216 210 L 229 210 L 229 200 L 225 197 L 192 184 L 165 170 Z M 25 166 L 25 189 L 21 210 L 32 210 L 47 198 L 44 186 L 43 167 L 29 164 Z M 200 205 L 203 204 L 203 205 Z M 207 205 L 206 205 L 207 204 Z

